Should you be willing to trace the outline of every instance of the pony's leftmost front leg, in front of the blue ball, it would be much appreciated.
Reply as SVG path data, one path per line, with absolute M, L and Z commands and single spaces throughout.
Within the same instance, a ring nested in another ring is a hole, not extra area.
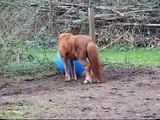
M 67 59 L 63 58 L 63 63 L 64 63 L 64 70 L 65 70 L 65 81 L 68 82 L 71 80 L 71 76 L 68 70 Z

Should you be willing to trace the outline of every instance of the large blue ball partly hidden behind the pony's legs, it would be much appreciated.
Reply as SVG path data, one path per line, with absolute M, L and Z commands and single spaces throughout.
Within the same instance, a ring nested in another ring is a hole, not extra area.
M 57 65 L 57 68 L 61 72 L 65 73 L 65 71 L 64 71 L 64 64 L 63 64 L 63 61 L 61 59 L 61 56 L 60 56 L 59 52 L 56 54 L 55 63 Z M 68 64 L 69 71 L 70 71 L 70 74 L 71 74 L 71 63 L 70 63 L 69 60 L 67 60 L 67 64 Z M 79 60 L 74 61 L 74 65 L 75 65 L 75 71 L 76 71 L 77 75 L 80 75 L 81 73 L 84 72 L 84 67 L 83 67 L 83 65 L 81 64 L 81 62 Z

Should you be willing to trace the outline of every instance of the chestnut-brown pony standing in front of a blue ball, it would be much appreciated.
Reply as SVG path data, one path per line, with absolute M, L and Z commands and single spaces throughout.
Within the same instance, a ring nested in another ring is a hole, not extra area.
M 93 43 L 91 37 L 62 33 L 58 36 L 58 51 L 64 63 L 65 81 L 77 79 L 74 67 L 74 61 L 77 59 L 80 60 L 86 70 L 84 84 L 93 82 L 91 69 L 95 76 L 95 82 L 102 80 L 103 70 L 98 56 L 97 45 Z M 89 62 L 87 62 L 86 58 L 89 59 Z M 71 61 L 71 76 L 67 66 L 67 59 Z

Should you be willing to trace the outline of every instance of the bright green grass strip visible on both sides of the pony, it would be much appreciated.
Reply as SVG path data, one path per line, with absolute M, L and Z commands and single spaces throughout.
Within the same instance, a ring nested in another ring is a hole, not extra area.
M 53 63 L 56 59 L 56 49 L 44 51 L 43 49 L 29 49 L 25 54 L 32 54 L 40 61 L 48 59 Z M 158 66 L 160 65 L 160 48 L 135 48 L 132 50 L 124 50 L 122 48 L 99 50 L 102 61 L 110 64 L 133 64 L 135 66 Z

